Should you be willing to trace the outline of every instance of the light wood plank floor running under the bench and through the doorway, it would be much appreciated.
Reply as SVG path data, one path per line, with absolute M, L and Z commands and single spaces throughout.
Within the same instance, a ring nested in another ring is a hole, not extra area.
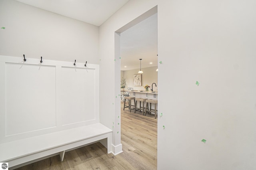
M 154 115 L 128 108 L 121 103 L 121 143 L 123 152 L 114 156 L 99 142 L 53 156 L 16 170 L 155 170 L 157 169 L 157 119 Z

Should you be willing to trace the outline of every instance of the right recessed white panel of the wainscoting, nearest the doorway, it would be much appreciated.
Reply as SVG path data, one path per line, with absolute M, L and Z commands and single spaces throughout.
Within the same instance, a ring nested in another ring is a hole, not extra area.
M 62 67 L 61 75 L 62 125 L 95 119 L 95 70 Z

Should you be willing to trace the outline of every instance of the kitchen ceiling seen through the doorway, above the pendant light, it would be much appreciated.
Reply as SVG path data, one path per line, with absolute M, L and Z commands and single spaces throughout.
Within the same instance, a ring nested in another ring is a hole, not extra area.
M 121 70 L 140 68 L 140 59 L 142 68 L 157 66 L 157 50 L 156 13 L 121 33 Z

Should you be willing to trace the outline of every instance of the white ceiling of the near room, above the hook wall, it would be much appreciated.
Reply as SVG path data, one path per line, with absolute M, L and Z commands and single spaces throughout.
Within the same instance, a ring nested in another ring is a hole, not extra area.
M 100 26 L 128 0 L 16 0 L 43 10 Z

